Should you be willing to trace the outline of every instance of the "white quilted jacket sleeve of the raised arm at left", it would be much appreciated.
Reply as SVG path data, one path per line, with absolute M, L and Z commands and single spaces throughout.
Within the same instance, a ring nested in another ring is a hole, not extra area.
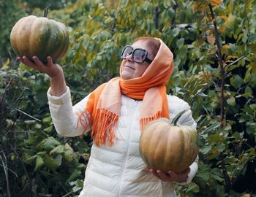
M 86 132 L 83 125 L 88 125 L 89 121 L 83 118 L 83 125 L 81 125 L 78 114 L 86 108 L 89 96 L 86 96 L 75 106 L 72 106 L 69 87 L 67 87 L 67 92 L 61 96 L 51 96 L 49 88 L 47 96 L 50 116 L 59 135 L 80 136 Z

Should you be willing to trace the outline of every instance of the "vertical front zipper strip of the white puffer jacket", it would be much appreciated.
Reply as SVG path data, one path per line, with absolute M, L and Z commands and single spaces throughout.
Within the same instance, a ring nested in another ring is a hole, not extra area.
M 135 104 L 134 104 L 134 107 L 135 109 L 137 108 L 138 106 L 138 101 L 135 101 Z M 119 185 L 118 185 L 118 196 L 120 197 L 121 196 L 121 181 L 122 181 L 122 178 L 123 178 L 123 172 L 124 172 L 124 166 L 127 162 L 127 152 L 128 152 L 128 149 L 129 149 L 129 139 L 130 139 L 130 136 L 131 136 L 131 129 L 133 127 L 133 124 L 135 122 L 135 112 L 136 110 L 132 110 L 132 124 L 129 126 L 129 134 L 128 134 L 128 137 L 127 137 L 127 144 L 126 144 L 126 147 L 125 147 L 125 151 L 124 151 L 124 162 L 122 163 L 122 166 L 121 166 L 121 173 L 120 173 L 120 181 L 119 181 Z

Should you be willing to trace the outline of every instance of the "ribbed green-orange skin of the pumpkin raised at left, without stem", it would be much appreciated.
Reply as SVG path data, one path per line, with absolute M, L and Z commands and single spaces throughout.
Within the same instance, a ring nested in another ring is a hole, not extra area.
M 59 61 L 67 53 L 69 34 L 64 24 L 56 20 L 30 15 L 13 26 L 10 40 L 17 55 L 26 55 L 31 61 L 35 55 L 46 63 L 48 56 Z

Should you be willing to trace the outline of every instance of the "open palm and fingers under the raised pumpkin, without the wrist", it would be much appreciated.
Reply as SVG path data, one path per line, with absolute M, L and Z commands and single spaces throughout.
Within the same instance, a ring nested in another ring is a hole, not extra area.
M 33 56 L 34 62 L 30 61 L 26 56 L 19 56 L 18 60 L 32 69 L 48 74 L 48 76 L 53 79 L 63 74 L 61 66 L 59 66 L 59 64 L 54 64 L 53 59 L 50 56 L 47 57 L 46 64 L 42 63 L 37 56 Z

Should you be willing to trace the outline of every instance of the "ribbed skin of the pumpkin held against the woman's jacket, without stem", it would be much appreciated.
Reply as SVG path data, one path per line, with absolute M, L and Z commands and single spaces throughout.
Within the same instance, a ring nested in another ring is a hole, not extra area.
M 165 173 L 189 168 L 198 154 L 197 131 L 187 125 L 171 125 L 161 117 L 149 122 L 140 136 L 140 156 L 147 166 Z

